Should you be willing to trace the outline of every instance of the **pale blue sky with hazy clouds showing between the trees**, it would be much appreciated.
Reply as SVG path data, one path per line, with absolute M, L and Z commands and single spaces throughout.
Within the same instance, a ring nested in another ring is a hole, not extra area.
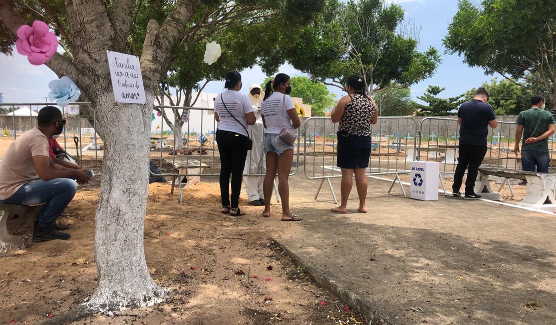
M 411 87 L 411 96 L 416 99 L 423 94 L 428 85 L 439 85 L 446 90 L 440 97 L 455 97 L 471 88 L 479 87 L 483 82 L 490 81 L 493 76 L 483 73 L 481 68 L 470 68 L 463 63 L 458 55 L 444 54 L 442 39 L 448 29 L 452 17 L 456 13 L 458 0 L 386 0 L 387 3 L 398 3 L 405 10 L 406 22 L 414 24 L 419 30 L 419 48 L 421 52 L 435 47 L 441 54 L 442 63 L 433 77 L 425 79 Z M 225 49 L 223 49 L 225 50 Z M 290 65 L 283 65 L 279 72 L 294 75 L 304 75 Z M 260 83 L 266 77 L 259 67 L 241 72 L 242 80 L 247 88 L 252 83 Z M 45 65 L 31 65 L 27 58 L 19 55 L 16 50 L 13 56 L 0 54 L 0 93 L 3 93 L 4 103 L 44 103 L 48 97 L 48 83 L 57 79 Z M 205 92 L 220 93 L 224 89 L 224 82 L 211 82 Z M 337 98 L 342 95 L 336 87 L 329 87 Z

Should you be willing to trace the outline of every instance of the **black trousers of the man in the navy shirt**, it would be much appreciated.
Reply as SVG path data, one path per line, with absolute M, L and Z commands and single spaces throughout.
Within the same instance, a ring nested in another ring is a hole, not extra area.
M 461 181 L 463 181 L 463 175 L 465 174 L 465 169 L 468 169 L 467 179 L 465 180 L 465 193 L 473 194 L 475 192 L 475 180 L 477 179 L 479 166 L 481 165 L 481 162 L 483 162 L 485 154 L 485 145 L 459 145 L 458 166 L 455 168 L 454 185 L 452 186 L 454 191 L 459 191 Z

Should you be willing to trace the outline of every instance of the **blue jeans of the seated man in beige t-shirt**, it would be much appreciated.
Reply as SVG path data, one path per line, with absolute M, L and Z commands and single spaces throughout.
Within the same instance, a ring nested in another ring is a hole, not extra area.
M 39 226 L 46 227 L 56 222 L 76 191 L 77 183 L 72 179 L 57 178 L 49 181 L 38 179 L 19 187 L 19 190 L 4 200 L 4 203 L 20 205 L 46 203 L 37 215 Z

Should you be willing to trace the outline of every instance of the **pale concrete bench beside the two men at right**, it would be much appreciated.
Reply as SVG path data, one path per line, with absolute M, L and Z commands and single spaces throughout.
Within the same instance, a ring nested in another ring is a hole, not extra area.
M 479 167 L 478 179 L 475 181 L 475 193 L 485 199 L 501 201 L 502 195 L 490 189 L 489 175 L 504 177 L 505 179 L 520 179 L 527 181 L 527 194 L 518 205 L 542 207 L 545 204 L 555 204 L 554 185 L 556 174 L 522 171 L 494 167 Z M 502 186 L 504 182 L 502 183 Z M 500 186 L 500 189 L 502 189 Z

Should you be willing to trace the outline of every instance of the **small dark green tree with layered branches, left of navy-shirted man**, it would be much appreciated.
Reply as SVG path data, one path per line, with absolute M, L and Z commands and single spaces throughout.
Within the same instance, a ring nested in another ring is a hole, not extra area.
M 443 92 L 446 88 L 429 85 L 426 92 L 417 98 L 423 100 L 428 105 L 419 105 L 419 116 L 447 116 L 455 115 L 454 110 L 457 110 L 459 105 L 464 102 L 463 95 L 450 98 L 439 98 L 438 94 Z

